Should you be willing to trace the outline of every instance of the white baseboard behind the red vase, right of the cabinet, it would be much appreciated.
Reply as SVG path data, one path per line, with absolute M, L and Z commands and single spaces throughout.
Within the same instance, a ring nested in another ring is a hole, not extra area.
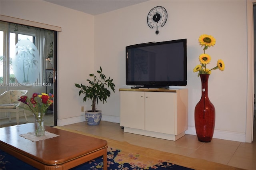
M 196 135 L 195 127 L 188 127 L 188 130 L 185 131 L 185 134 Z M 230 131 L 224 131 L 224 130 L 214 130 L 213 138 L 233 140 L 238 142 L 246 141 L 245 133 L 230 132 Z

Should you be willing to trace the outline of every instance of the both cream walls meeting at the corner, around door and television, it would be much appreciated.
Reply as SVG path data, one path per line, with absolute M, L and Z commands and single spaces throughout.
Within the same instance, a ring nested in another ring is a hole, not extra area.
M 218 59 L 223 59 L 226 65 L 223 72 L 212 71 L 208 83 L 209 97 L 216 109 L 214 137 L 245 141 L 246 1 L 148 1 L 97 16 L 42 1 L 1 0 L 0 3 L 2 15 L 62 27 L 58 34 L 59 125 L 84 120 L 80 117 L 83 115 L 80 107 L 88 109 L 90 103 L 82 102 L 74 83 L 85 82 L 86 76 L 100 66 L 105 75 L 114 79 L 116 93 L 97 108 L 103 110 L 103 119 L 118 122 L 118 89 L 127 87 L 125 46 L 187 38 L 189 130 L 186 133 L 195 134 L 194 107 L 201 97 L 201 84 L 192 70 L 199 64 L 198 56 L 202 53 L 198 38 L 210 34 L 216 38 L 216 45 L 207 50 L 212 56 L 210 67 Z M 159 35 L 146 22 L 148 12 L 155 6 L 163 6 L 168 12 Z

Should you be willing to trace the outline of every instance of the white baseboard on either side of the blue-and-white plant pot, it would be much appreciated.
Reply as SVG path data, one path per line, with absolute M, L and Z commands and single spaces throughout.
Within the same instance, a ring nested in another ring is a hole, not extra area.
M 102 121 L 107 121 L 107 122 L 113 122 L 113 123 L 120 123 L 120 117 L 117 116 L 110 116 L 110 115 L 103 115 L 102 114 Z M 70 125 L 74 123 L 79 123 L 79 122 L 84 122 L 85 117 L 84 115 L 78 116 L 78 117 L 71 117 L 71 118 L 66 118 L 66 119 L 58 119 L 57 120 L 57 126 L 65 126 L 65 125 Z

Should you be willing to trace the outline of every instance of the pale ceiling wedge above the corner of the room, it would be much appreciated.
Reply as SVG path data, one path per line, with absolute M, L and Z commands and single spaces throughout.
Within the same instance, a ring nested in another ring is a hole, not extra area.
M 78 10 L 91 15 L 103 14 L 147 0 L 46 0 L 53 4 Z

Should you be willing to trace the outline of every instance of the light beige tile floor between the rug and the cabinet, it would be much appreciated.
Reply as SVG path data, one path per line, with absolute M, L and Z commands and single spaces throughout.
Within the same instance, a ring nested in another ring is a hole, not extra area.
M 208 161 L 248 170 L 256 170 L 256 135 L 254 135 L 254 142 L 252 143 L 216 138 L 213 138 L 209 143 L 204 143 L 199 142 L 196 136 L 189 134 L 186 134 L 176 141 L 171 141 L 126 133 L 120 127 L 120 124 L 106 121 L 101 121 L 98 126 L 88 126 L 86 122 L 81 122 L 63 127 L 114 140 L 126 141 L 130 144 L 164 152 L 206 159 Z

